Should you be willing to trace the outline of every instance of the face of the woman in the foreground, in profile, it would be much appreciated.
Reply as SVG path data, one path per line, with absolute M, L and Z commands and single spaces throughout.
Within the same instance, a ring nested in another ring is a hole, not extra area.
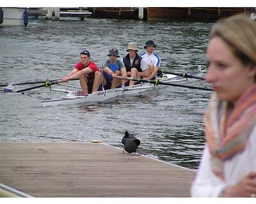
M 256 68 L 245 66 L 232 54 L 220 37 L 214 37 L 207 48 L 209 71 L 206 80 L 218 97 L 236 103 L 237 99 L 255 80 Z

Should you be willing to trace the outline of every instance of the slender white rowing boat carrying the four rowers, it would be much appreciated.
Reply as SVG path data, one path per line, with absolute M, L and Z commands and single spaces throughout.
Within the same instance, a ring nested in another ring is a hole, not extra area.
M 192 76 L 202 76 L 203 71 L 198 69 L 198 71 L 191 73 Z M 172 82 L 172 83 L 188 83 L 193 78 L 184 78 L 184 77 L 177 77 L 177 75 L 166 74 L 163 75 L 162 82 Z M 111 98 L 115 98 L 117 96 L 124 96 L 124 95 L 136 95 L 141 94 L 141 92 L 145 92 L 148 90 L 157 89 L 157 85 L 150 84 L 150 83 L 143 83 L 143 84 L 136 84 L 128 87 L 120 87 L 116 89 L 109 89 L 105 91 L 97 91 L 93 92 L 92 94 L 88 94 L 86 96 L 77 94 L 77 92 L 72 91 L 65 91 L 60 89 L 51 89 L 52 91 L 61 91 L 61 92 L 68 92 L 67 96 L 63 96 L 61 98 L 56 99 L 49 99 L 46 101 L 42 101 L 42 106 L 56 106 L 56 105 L 73 105 L 73 104 L 92 104 L 98 103 L 102 101 L 106 101 Z

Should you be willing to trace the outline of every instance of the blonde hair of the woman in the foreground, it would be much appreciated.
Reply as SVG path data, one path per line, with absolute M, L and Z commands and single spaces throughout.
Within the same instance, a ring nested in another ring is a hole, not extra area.
M 212 27 L 210 38 L 220 37 L 243 63 L 256 66 L 256 21 L 237 14 L 219 20 Z

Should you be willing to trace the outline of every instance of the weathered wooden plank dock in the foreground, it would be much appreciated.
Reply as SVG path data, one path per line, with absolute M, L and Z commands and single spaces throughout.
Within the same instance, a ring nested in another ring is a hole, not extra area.
M 0 142 L 0 183 L 33 197 L 189 197 L 194 178 L 102 143 Z

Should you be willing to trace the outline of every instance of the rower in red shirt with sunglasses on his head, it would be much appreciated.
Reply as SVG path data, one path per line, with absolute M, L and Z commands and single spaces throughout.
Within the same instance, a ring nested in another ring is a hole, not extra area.
M 80 53 L 80 60 L 74 69 L 66 77 L 63 77 L 61 81 L 68 82 L 71 79 L 79 78 L 83 94 L 104 90 L 102 73 L 91 60 L 90 52 L 83 50 Z

